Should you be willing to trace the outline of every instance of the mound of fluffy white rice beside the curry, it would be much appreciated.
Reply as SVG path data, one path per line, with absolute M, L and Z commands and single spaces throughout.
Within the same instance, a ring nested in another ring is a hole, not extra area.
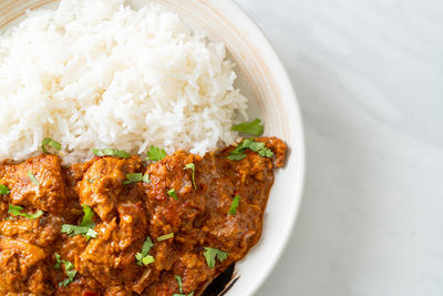
M 0 160 L 62 144 L 66 163 L 93 147 L 204 154 L 231 144 L 247 99 L 223 43 L 157 6 L 62 0 L 0 37 Z

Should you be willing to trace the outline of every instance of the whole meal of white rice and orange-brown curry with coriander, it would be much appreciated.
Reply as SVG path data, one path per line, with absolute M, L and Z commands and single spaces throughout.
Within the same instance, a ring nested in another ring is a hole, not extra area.
M 27 14 L 0 35 L 0 295 L 202 295 L 286 156 L 224 44 L 123 0 Z

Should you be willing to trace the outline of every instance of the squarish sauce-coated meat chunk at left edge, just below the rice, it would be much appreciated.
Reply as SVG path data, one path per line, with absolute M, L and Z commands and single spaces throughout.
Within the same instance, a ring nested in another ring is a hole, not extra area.
M 61 213 L 66 195 L 60 163 L 58 156 L 43 154 L 20 164 L 1 165 L 0 184 L 11 191 L 8 202 L 43 212 Z

